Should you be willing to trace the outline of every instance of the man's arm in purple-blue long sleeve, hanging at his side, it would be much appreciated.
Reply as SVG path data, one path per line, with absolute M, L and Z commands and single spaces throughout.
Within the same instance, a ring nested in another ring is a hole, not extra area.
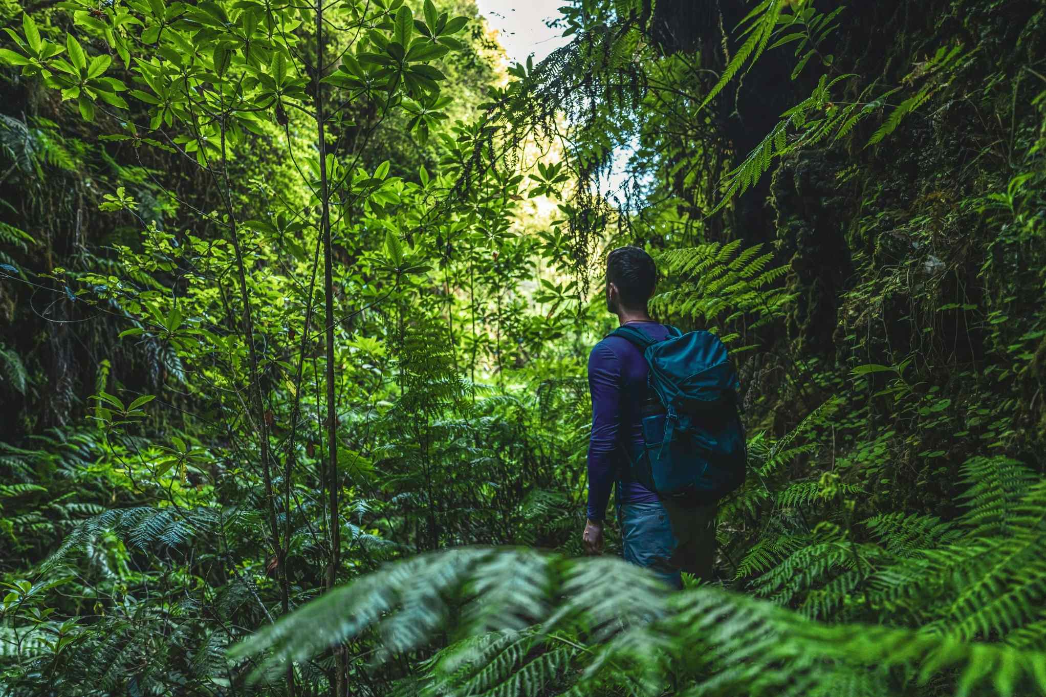
M 588 452 L 588 518 L 601 522 L 607 516 L 610 491 L 617 474 L 615 450 L 620 424 L 621 362 L 598 343 L 589 354 L 589 391 L 592 395 L 592 435 Z

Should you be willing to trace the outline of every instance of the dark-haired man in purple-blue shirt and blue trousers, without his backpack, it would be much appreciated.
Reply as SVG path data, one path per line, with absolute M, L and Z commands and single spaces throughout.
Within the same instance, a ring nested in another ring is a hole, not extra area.
M 660 341 L 668 330 L 646 312 L 656 279 L 654 260 L 639 247 L 620 247 L 607 257 L 607 309 L 620 324 L 635 325 Z M 676 588 L 682 587 L 680 570 L 709 579 L 715 545 L 714 504 L 682 507 L 662 501 L 629 473 L 630 457 L 643 446 L 642 408 L 651 399 L 646 360 L 631 341 L 611 336 L 592 348 L 588 370 L 592 435 L 588 521 L 583 535 L 586 552 L 602 550 L 607 503 L 616 487 L 627 561 L 649 567 Z

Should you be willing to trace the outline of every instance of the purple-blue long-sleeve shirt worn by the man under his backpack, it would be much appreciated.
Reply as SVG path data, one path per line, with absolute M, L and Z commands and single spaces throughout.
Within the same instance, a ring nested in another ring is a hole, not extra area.
M 629 322 L 652 339 L 667 338 L 668 330 L 657 322 Z M 589 391 L 592 394 L 592 435 L 588 452 L 588 517 L 602 520 L 610 491 L 628 465 L 624 443 L 638 451 L 643 443 L 642 414 L 646 397 L 646 360 L 628 339 L 611 336 L 589 354 Z M 622 478 L 617 492 L 621 503 L 652 502 L 657 494 L 638 481 Z

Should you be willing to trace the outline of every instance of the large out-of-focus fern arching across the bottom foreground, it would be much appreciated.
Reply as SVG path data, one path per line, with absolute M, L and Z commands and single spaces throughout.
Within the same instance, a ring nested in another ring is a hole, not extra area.
M 919 673 L 927 679 L 954 667 L 960 692 L 992 681 L 1008 696 L 1046 674 L 1046 655 L 1010 646 L 970 645 L 908 629 L 827 626 L 707 586 L 659 593 L 645 571 L 619 560 L 475 548 L 427 555 L 364 577 L 260 630 L 232 655 L 265 654 L 263 666 L 274 669 L 374 624 L 387 649 L 420 648 L 448 626 L 448 603 L 465 609 L 481 603 L 488 619 L 511 625 L 520 606 L 506 589 L 519 581 L 505 578 L 501 569 L 508 565 L 535 586 L 527 595 L 542 599 L 528 609 L 533 624 L 493 632 L 465 625 L 465 635 L 433 658 L 422 678 L 423 694 L 592 694 L 608 682 L 657 694 L 673 674 L 691 681 L 687 694 L 829 695 L 843 685 L 876 694 L 876 682 L 900 692 Z M 583 628 L 592 632 L 584 640 L 556 634 Z M 577 669 L 576 683 L 567 677 L 568 665 Z

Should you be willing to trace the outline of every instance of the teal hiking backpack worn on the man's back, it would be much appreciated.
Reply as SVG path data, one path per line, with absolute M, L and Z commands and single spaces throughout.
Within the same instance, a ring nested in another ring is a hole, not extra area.
M 623 325 L 609 334 L 635 344 L 650 366 L 642 406 L 643 448 L 630 452 L 632 477 L 661 498 L 711 503 L 745 481 L 748 453 L 737 374 L 719 337 L 668 327 L 655 341 Z

